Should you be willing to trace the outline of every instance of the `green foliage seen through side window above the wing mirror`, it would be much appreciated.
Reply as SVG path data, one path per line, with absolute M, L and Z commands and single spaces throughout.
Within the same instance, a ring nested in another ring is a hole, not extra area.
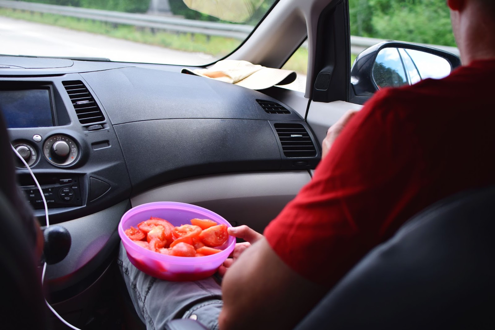
M 445 0 L 349 0 L 351 35 L 455 46 Z

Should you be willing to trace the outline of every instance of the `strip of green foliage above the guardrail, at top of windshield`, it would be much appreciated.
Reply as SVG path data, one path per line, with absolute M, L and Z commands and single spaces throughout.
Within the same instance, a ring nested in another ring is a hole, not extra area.
M 125 12 L 147 12 L 150 0 L 24 0 L 73 7 L 105 9 Z

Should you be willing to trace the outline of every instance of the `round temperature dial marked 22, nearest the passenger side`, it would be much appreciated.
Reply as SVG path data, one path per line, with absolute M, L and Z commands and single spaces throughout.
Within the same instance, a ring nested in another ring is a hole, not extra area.
M 43 153 L 51 164 L 64 166 L 76 161 L 79 149 L 72 138 L 59 134 L 45 141 Z

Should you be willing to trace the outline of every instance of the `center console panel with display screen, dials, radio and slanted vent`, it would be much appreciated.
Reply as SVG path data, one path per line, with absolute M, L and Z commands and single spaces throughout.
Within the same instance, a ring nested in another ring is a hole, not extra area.
M 50 222 L 93 214 L 129 197 L 117 136 L 80 74 L 0 76 L 0 109 L 14 149 L 42 187 Z M 43 222 L 41 194 L 25 165 L 14 159 L 21 190 Z

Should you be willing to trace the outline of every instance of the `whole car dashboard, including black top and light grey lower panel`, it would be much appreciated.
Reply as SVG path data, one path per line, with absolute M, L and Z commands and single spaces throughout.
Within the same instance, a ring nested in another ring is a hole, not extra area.
M 0 67 L 12 145 L 40 181 L 50 223 L 72 236 L 69 255 L 47 268 L 55 301 L 101 275 L 131 207 L 192 203 L 261 231 L 320 160 L 297 111 L 244 87 L 108 61 L 2 56 Z M 26 101 L 15 108 L 9 97 Z M 46 224 L 40 193 L 16 166 Z

